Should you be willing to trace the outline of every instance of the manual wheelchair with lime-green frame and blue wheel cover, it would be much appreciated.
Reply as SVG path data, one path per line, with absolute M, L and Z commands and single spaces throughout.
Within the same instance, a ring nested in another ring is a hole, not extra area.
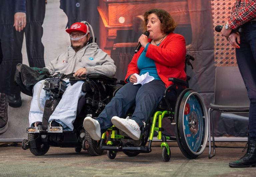
M 185 71 L 187 65 L 193 69 L 190 60 L 194 60 L 194 58 L 191 55 L 186 55 Z M 157 132 L 157 139 L 162 140 L 163 161 L 167 162 L 171 157 L 167 140 L 176 140 L 185 157 L 193 159 L 199 156 L 204 151 L 208 141 L 209 119 L 203 98 L 188 88 L 189 80 L 189 76 L 187 76 L 187 81 L 169 78 L 169 81 L 174 84 L 166 88 L 164 97 L 153 115 L 152 123 L 150 121 L 142 126 L 139 140 L 133 140 L 112 126 L 102 134 L 101 149 L 107 150 L 110 159 L 114 159 L 118 151 L 124 152 L 127 156 L 149 153 L 152 151 L 151 144 L 154 132 Z M 133 110 L 134 108 L 131 108 L 128 111 L 128 117 L 132 115 Z M 169 119 L 170 125 L 175 126 L 176 136 L 163 133 L 162 121 L 164 118 Z M 108 138 L 107 143 L 106 138 Z M 149 142 L 146 145 L 148 139 Z

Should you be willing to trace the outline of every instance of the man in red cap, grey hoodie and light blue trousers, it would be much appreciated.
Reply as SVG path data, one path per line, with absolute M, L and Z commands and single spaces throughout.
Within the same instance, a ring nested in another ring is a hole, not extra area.
M 71 45 L 55 60 L 50 61 L 46 67 L 54 75 L 56 73 L 70 74 L 75 76 L 88 75 L 92 73 L 103 74 L 112 78 L 116 72 L 116 66 L 110 56 L 102 51 L 96 43 L 90 43 L 90 32 L 87 23 L 74 23 L 66 30 L 70 35 Z M 49 118 L 50 126 L 62 126 L 63 130 L 73 130 L 73 122 L 76 118 L 77 103 L 81 96 L 83 81 L 77 81 L 71 85 L 69 79 L 65 80 L 67 88 L 56 109 Z M 38 126 L 42 124 L 43 111 L 38 106 L 38 92 L 43 81 L 37 82 L 33 87 L 33 98 L 31 101 L 29 124 Z M 49 99 L 50 93 L 41 90 L 40 105 L 44 107 L 45 101 Z

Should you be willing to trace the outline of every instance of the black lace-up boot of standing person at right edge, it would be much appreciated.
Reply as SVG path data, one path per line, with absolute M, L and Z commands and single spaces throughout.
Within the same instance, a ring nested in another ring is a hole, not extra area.
M 249 139 L 247 153 L 237 161 L 229 162 L 230 167 L 255 167 L 256 165 L 256 141 Z

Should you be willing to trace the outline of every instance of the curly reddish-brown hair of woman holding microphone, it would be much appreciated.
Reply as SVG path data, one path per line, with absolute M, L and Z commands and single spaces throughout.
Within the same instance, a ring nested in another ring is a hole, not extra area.
M 148 21 L 148 16 L 150 14 L 156 14 L 157 17 L 159 18 L 161 22 L 161 32 L 165 34 L 169 34 L 173 32 L 177 26 L 177 23 L 174 21 L 174 19 L 171 17 L 171 15 L 163 10 L 163 9 L 151 9 L 148 10 L 144 13 L 144 22 L 142 23 L 141 29 L 143 31 L 147 30 L 147 21 Z

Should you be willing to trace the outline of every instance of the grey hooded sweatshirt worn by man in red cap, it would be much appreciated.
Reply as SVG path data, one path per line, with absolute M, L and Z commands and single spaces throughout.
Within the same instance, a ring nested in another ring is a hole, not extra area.
M 51 74 L 70 74 L 83 67 L 87 69 L 87 75 L 99 73 L 112 78 L 116 72 L 113 59 L 102 51 L 97 43 L 90 43 L 77 52 L 68 46 L 66 52 L 60 54 L 57 59 L 50 61 L 46 66 Z

